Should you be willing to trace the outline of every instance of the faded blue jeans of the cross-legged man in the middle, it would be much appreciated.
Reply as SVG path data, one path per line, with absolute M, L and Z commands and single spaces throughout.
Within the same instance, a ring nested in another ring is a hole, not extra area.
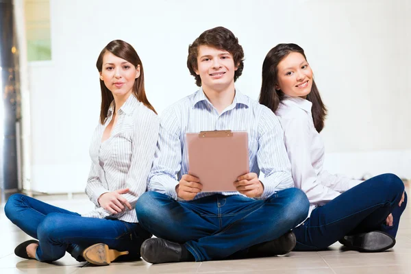
M 184 244 L 198 262 L 227 258 L 274 240 L 306 219 L 308 208 L 304 192 L 288 188 L 266 200 L 217 194 L 180 202 L 146 192 L 138 199 L 136 212 L 142 227 Z

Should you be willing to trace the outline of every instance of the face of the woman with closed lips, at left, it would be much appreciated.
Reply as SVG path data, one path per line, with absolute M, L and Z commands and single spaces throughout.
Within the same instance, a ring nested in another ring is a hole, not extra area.
M 104 54 L 100 79 L 114 97 L 128 97 L 132 94 L 134 82 L 139 76 L 140 65 L 135 67 L 111 52 Z

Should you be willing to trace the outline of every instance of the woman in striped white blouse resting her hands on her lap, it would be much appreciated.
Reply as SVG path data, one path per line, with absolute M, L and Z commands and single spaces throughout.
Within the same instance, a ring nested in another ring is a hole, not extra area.
M 82 262 L 110 264 L 140 258 L 151 234 L 140 227 L 136 201 L 147 188 L 160 121 L 145 95 L 142 63 L 134 48 L 113 40 L 97 60 L 101 86 L 100 119 L 92 136 L 86 194 L 95 210 L 78 214 L 21 194 L 12 195 L 5 215 L 27 240 L 16 256 L 41 262 L 67 252 Z

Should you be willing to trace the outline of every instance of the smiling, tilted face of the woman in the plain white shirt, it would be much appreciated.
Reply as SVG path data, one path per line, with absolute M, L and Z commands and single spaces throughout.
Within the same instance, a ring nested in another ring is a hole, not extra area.
M 276 90 L 290 97 L 306 98 L 312 87 L 312 70 L 301 53 L 292 52 L 277 66 Z

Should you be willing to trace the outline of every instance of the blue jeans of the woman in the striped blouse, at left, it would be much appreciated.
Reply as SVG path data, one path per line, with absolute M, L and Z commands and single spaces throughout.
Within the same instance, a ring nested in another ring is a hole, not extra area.
M 42 262 L 58 260 L 66 251 L 82 261 L 82 251 L 99 242 L 129 251 L 121 260 L 136 260 L 142 242 L 151 237 L 138 223 L 82 217 L 21 194 L 10 196 L 4 212 L 14 225 L 38 239 L 36 258 Z

